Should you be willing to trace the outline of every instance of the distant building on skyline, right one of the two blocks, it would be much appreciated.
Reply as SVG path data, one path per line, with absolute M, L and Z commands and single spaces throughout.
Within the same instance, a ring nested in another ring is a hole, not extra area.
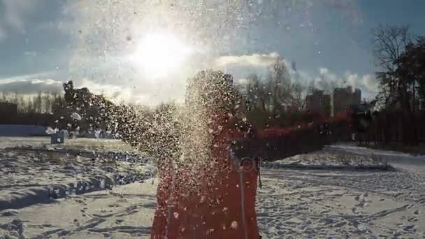
M 352 87 L 336 88 L 333 91 L 333 115 L 347 110 L 349 106 L 361 103 L 361 90 Z

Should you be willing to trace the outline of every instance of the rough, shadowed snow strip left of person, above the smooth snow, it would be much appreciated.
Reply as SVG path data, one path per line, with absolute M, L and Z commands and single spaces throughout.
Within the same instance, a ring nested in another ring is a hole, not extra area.
M 0 211 L 141 182 L 155 173 L 150 163 L 131 152 L 0 150 Z

